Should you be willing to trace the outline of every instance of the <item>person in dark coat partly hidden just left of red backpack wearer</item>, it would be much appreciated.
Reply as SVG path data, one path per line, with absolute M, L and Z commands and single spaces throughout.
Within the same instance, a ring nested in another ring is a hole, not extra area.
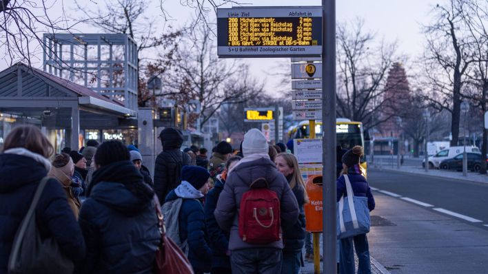
M 231 273 L 229 257 L 229 233 L 223 231 L 215 220 L 214 211 L 217 205 L 218 196 L 221 195 L 227 179 L 227 171 L 234 167 L 241 157 L 234 156 L 227 160 L 225 170 L 217 176 L 214 188 L 209 191 L 205 198 L 205 222 L 207 222 L 207 231 L 212 248 L 212 270 L 211 274 Z

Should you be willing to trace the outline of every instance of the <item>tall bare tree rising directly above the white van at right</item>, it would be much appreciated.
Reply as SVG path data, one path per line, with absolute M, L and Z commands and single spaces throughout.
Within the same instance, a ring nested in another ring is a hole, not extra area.
M 451 145 L 458 144 L 462 85 L 472 62 L 462 19 L 464 3 L 465 0 L 449 0 L 446 6 L 437 5 L 433 10 L 436 20 L 425 27 L 424 74 L 431 92 L 424 98 L 431 107 L 451 113 Z

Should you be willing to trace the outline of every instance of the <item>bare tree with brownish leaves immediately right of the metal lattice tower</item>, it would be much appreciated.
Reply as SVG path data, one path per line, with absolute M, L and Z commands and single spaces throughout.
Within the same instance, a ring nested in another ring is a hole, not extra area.
M 108 0 L 103 8 L 92 8 L 94 1 L 75 1 L 77 10 L 83 12 L 88 23 L 105 32 L 128 34 L 137 42 L 138 56 L 138 105 L 145 107 L 156 103 L 147 81 L 154 75 L 170 70 L 176 59 L 174 52 L 178 46 L 181 30 L 167 28 L 166 32 L 156 28 L 158 17 L 150 17 L 148 0 Z M 92 16 L 94 14 L 94 16 Z M 161 34 L 154 36 L 154 32 Z M 146 54 L 148 52 L 148 54 Z M 154 59 L 156 56 L 159 58 Z

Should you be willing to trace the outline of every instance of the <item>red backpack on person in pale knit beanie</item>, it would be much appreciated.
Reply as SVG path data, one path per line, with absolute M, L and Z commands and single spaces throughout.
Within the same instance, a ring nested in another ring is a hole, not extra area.
M 239 210 L 239 236 L 250 244 L 281 240 L 280 200 L 265 178 L 258 178 L 243 194 Z

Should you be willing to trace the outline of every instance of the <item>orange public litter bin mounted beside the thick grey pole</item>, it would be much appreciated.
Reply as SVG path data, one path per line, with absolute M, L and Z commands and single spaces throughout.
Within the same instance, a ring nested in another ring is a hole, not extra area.
M 305 230 L 321 233 L 323 231 L 322 176 L 315 175 L 307 178 L 305 191 L 309 200 L 305 204 Z

